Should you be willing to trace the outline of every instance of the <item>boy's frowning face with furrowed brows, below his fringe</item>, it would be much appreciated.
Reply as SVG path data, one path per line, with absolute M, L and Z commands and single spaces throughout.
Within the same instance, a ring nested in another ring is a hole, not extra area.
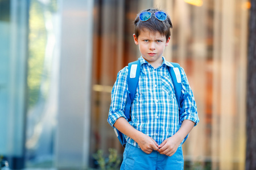
M 153 67 L 162 65 L 164 48 L 168 45 L 170 37 L 166 40 L 166 36 L 159 32 L 152 32 L 148 30 L 141 31 L 139 36 L 134 37 L 134 42 L 139 45 L 139 51 L 142 57 L 150 63 Z

